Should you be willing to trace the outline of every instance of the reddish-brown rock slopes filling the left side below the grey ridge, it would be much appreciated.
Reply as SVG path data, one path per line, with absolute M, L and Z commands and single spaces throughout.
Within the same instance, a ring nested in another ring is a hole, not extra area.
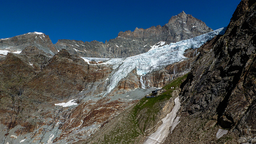
M 81 111 L 89 115 L 97 111 L 95 110 L 97 106 L 107 107 L 108 104 L 104 105 L 104 103 L 113 104 L 113 107 L 96 112 L 101 113 L 102 118 L 97 119 L 93 118 L 94 115 L 90 115 L 92 119 L 95 119 L 95 123 L 102 123 L 113 116 L 116 111 L 121 111 L 125 106 L 130 105 L 121 105 L 123 102 L 106 100 L 99 101 L 96 106 L 91 106 L 89 101 L 85 106 L 79 105 L 84 106 L 85 109 L 79 109 L 81 107 L 78 106 L 78 109 L 74 109 L 75 111 L 68 107 L 64 109 L 55 107 L 54 103 L 67 102 L 71 96 L 76 96 L 85 88 L 90 91 L 88 84 L 95 85 L 95 90 L 91 91 L 92 94 L 101 93 L 105 90 L 102 85 L 106 85 L 103 79 L 109 77 L 112 69 L 104 64 L 87 64 L 83 59 L 70 55 L 66 50 L 60 51 L 52 58 L 39 54 L 37 51 L 42 52 L 36 47 L 26 47 L 22 54 L 8 53 L 7 57 L 0 61 L 0 104 L 2 106 L 0 120 L 1 126 L 5 125 L 3 129 L 5 131 L 1 131 L 5 135 L 4 140 L 8 140 L 11 135 L 21 135 L 29 137 L 29 142 L 40 143 L 40 139 L 56 130 L 56 127 L 67 133 L 71 133 L 74 127 L 79 128 L 80 120 L 87 116 L 81 115 Z M 36 66 L 40 60 L 43 61 L 40 63 L 41 68 L 38 69 Z M 97 99 L 92 103 L 95 102 Z M 119 108 L 118 105 L 121 107 Z M 73 116 L 78 117 L 77 115 L 83 118 L 73 120 Z M 72 120 L 71 125 L 65 123 L 71 123 Z M 92 125 L 92 123 L 88 124 Z M 82 125 L 82 127 L 86 126 Z M 28 135 L 28 133 L 33 133 L 33 135 Z M 81 133 L 81 137 L 83 135 L 85 134 Z M 44 141 L 46 142 L 47 139 Z

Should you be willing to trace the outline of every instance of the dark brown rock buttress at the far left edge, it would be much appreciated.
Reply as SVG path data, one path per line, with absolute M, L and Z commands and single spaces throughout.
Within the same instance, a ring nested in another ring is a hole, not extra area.
M 10 75 L 11 73 L 11 75 Z M 0 61 L 0 121 L 11 129 L 23 119 L 18 117 L 23 109 L 21 95 L 25 81 L 35 76 L 35 69 L 24 63 L 16 54 L 8 53 L 6 59 Z

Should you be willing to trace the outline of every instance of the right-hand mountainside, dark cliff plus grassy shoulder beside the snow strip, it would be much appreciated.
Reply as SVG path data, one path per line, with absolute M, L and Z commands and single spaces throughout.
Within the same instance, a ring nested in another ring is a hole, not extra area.
M 225 35 L 200 47 L 192 70 L 177 94 L 181 102 L 180 122 L 164 144 L 256 143 L 255 20 L 256 2 L 242 0 Z M 154 113 L 164 114 L 166 106 L 162 103 L 158 109 L 153 104 L 148 114 L 142 107 L 151 100 L 141 99 L 85 143 L 143 143 L 149 135 L 143 132 L 152 133 L 161 123 L 152 123 Z M 134 108 L 137 111 L 134 112 Z M 158 110 L 155 112 L 155 109 Z M 134 118 L 134 113 L 139 113 L 139 118 Z M 147 116 L 151 116 L 151 120 L 145 120 Z

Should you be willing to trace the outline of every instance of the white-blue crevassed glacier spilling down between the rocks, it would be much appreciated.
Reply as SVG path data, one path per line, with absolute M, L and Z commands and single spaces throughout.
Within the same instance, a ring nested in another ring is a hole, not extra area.
M 148 52 L 139 54 L 133 57 L 120 58 L 120 59 L 102 59 L 102 58 L 85 58 L 89 60 L 103 60 L 106 64 L 112 65 L 114 71 L 109 78 L 109 85 L 107 91 L 104 92 L 106 96 L 111 90 L 116 87 L 122 78 L 126 78 L 128 73 L 137 70 L 137 74 L 141 76 L 140 83 L 142 88 L 145 88 L 145 81 L 142 76 L 152 71 L 157 71 L 169 64 L 185 59 L 184 51 L 189 48 L 199 48 L 205 42 L 211 40 L 216 35 L 223 35 L 225 28 L 220 28 L 215 31 L 199 35 L 194 38 L 171 43 L 160 47 L 152 47 Z

